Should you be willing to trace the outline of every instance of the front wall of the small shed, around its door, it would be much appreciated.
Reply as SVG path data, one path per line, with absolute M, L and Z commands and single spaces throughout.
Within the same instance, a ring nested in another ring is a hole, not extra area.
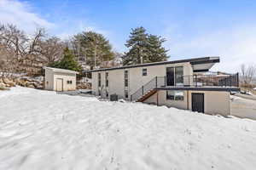
M 76 74 L 54 72 L 54 91 L 56 91 L 56 79 L 63 79 L 63 91 L 71 91 L 76 89 Z M 72 84 L 67 84 L 67 81 L 72 81 Z

